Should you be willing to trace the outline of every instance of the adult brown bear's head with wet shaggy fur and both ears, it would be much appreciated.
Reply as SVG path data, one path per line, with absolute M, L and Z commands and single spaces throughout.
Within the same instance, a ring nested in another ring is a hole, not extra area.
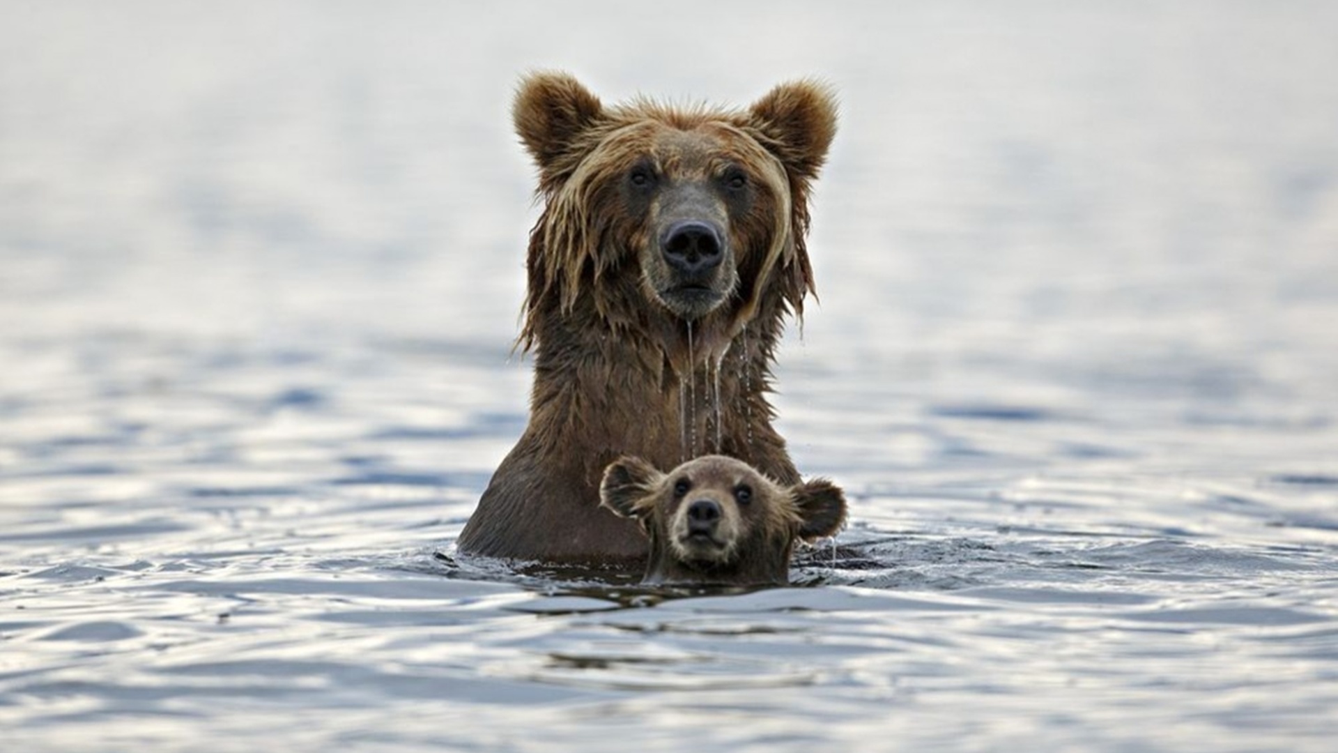
M 775 87 L 744 110 L 649 99 L 606 107 L 566 74 L 519 87 L 516 133 L 539 167 L 522 342 L 578 300 L 613 327 L 702 322 L 727 338 L 764 299 L 801 314 L 808 188 L 836 130 L 824 84 Z

